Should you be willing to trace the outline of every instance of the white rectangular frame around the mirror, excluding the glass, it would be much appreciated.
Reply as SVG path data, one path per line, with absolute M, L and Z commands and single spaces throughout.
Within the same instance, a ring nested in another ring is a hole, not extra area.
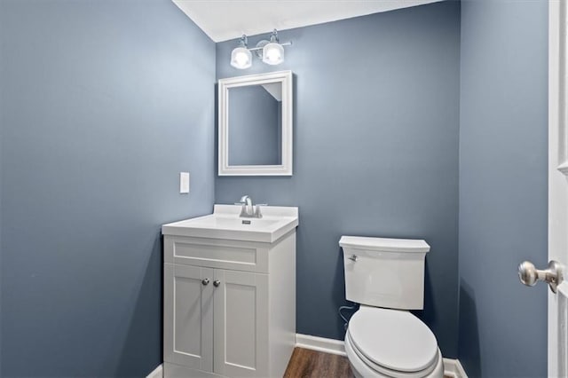
M 280 165 L 229 165 L 229 90 L 267 83 L 282 85 L 282 160 Z M 292 71 L 219 79 L 219 176 L 292 176 Z

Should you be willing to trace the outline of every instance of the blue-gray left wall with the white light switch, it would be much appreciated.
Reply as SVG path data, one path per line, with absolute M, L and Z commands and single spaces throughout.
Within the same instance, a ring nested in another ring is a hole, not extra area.
M 2 375 L 146 376 L 160 225 L 213 203 L 215 43 L 170 0 L 2 0 L 0 25 Z

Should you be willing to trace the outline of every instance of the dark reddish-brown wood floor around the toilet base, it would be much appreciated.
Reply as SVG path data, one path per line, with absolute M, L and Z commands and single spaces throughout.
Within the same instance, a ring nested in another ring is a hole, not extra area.
M 321 351 L 295 348 L 284 378 L 352 378 L 349 360 Z M 452 378 L 447 375 L 444 378 Z

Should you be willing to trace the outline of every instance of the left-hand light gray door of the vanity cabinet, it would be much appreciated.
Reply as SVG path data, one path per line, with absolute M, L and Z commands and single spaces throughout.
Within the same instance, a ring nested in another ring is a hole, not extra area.
M 212 371 L 213 278 L 210 268 L 164 264 L 164 361 Z

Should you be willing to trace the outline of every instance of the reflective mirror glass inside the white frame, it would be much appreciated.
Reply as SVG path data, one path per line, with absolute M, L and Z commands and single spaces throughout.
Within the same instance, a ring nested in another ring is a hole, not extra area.
M 229 165 L 282 163 L 282 84 L 229 89 Z

